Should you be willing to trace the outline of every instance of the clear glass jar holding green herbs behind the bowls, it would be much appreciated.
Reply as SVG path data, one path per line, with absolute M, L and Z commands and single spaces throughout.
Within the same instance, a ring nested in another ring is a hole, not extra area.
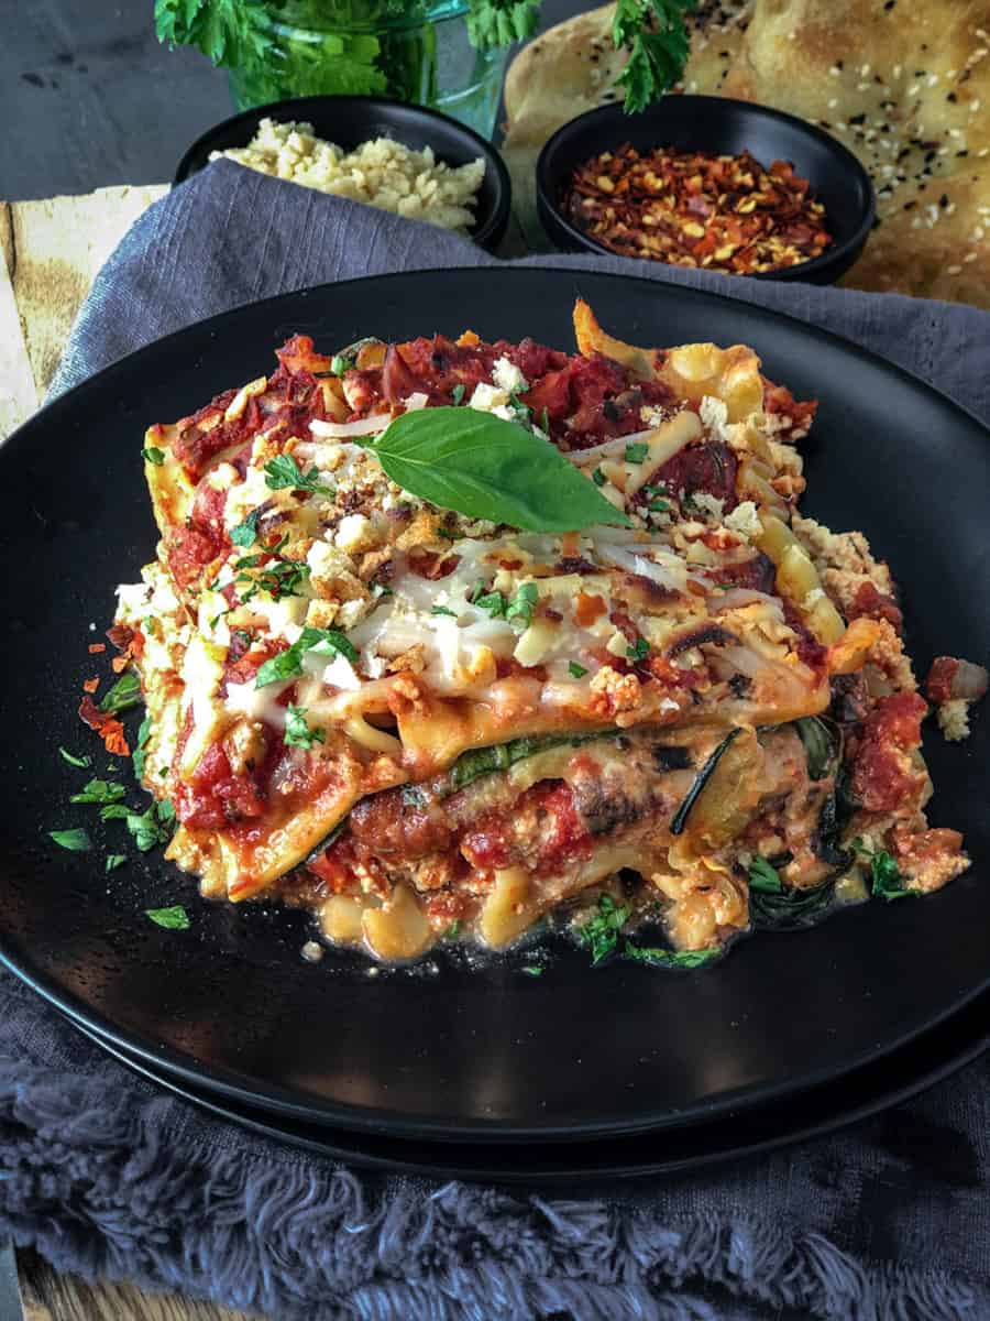
M 242 3 L 259 40 L 230 70 L 238 110 L 326 92 L 393 96 L 491 137 L 507 52 L 474 49 L 463 0 Z

